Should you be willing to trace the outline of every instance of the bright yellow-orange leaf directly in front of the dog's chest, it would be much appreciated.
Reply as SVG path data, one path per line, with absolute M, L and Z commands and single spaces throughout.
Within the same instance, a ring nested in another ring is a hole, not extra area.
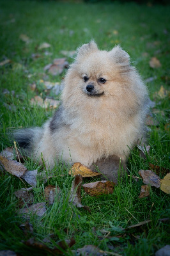
M 95 177 L 101 175 L 101 173 L 93 172 L 91 169 L 89 169 L 84 164 L 81 164 L 79 162 L 74 163 L 68 173 L 72 176 L 80 174 L 82 177 Z

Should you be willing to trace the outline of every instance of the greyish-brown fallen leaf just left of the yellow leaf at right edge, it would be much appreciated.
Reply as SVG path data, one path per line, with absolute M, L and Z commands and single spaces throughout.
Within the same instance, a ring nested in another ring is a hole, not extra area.
M 144 184 L 150 184 L 156 188 L 160 187 L 160 177 L 150 170 L 140 170 L 139 175 L 143 178 Z

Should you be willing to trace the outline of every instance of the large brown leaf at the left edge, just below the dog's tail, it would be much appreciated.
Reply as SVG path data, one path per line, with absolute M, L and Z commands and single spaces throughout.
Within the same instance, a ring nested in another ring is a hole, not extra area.
M 8 160 L 4 156 L 0 156 L 0 165 L 3 170 L 19 178 L 22 177 L 22 175 L 24 175 L 24 173 L 27 171 L 27 168 L 23 164 L 15 160 Z

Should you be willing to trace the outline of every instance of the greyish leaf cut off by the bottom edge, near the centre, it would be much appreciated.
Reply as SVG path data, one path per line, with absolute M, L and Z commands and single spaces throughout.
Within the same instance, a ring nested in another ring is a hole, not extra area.
M 91 255 L 91 256 L 104 256 L 107 255 L 104 251 L 100 250 L 97 246 L 93 244 L 85 245 L 82 248 L 78 248 L 76 251 L 72 251 L 73 253 L 76 253 L 75 255 Z M 116 255 L 116 253 L 114 254 Z M 118 254 L 117 254 L 118 255 Z

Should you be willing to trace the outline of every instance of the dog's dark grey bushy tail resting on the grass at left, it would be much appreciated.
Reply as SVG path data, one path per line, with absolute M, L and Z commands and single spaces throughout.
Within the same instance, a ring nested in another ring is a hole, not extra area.
M 42 127 L 20 129 L 13 133 L 13 141 L 17 142 L 24 154 L 31 156 L 35 145 L 41 140 L 42 134 Z

